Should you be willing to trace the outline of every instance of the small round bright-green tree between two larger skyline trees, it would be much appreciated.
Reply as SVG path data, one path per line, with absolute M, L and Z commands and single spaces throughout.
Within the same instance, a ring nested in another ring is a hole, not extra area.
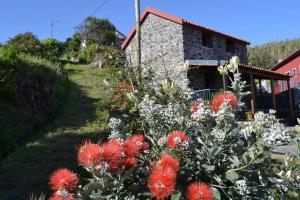
M 58 60 L 64 52 L 63 43 L 57 39 L 49 38 L 42 42 L 43 56 L 51 61 Z

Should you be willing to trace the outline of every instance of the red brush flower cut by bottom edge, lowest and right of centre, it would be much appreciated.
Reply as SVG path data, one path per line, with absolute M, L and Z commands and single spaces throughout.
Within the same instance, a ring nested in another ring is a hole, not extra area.
M 205 183 L 193 183 L 188 189 L 186 196 L 188 200 L 213 200 L 211 187 Z

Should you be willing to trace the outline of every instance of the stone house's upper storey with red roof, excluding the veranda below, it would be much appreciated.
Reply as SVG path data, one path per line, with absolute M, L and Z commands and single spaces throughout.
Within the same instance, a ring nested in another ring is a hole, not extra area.
M 122 49 L 135 65 L 135 28 Z M 186 60 L 229 60 L 240 57 L 247 63 L 249 42 L 196 25 L 182 18 L 148 8 L 141 17 L 141 49 L 144 65 L 163 64 L 167 69 L 183 66 Z

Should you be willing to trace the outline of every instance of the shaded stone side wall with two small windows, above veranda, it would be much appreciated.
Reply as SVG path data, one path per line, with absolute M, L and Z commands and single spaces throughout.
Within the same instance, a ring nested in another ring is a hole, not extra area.
M 185 60 L 229 60 L 237 55 L 241 63 L 247 64 L 247 47 L 234 42 L 234 52 L 226 51 L 226 39 L 212 35 L 212 48 L 202 46 L 202 33 L 192 27 L 183 27 L 183 44 Z

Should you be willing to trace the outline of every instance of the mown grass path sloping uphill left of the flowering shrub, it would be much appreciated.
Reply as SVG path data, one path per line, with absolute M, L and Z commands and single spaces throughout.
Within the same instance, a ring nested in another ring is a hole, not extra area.
M 67 167 L 84 174 L 76 149 L 85 139 L 106 137 L 110 92 L 102 80 L 109 69 L 65 65 L 72 87 L 53 122 L 42 136 L 17 149 L 0 166 L 0 200 L 28 199 L 30 194 L 49 195 L 48 177 Z

